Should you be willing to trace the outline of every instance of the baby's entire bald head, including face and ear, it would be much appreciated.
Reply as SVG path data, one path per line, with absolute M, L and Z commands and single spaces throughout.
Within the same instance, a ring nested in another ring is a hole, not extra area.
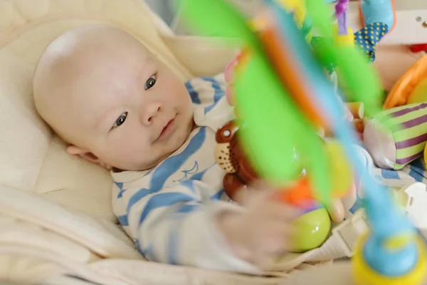
M 86 38 L 81 48 L 70 48 L 73 53 L 59 60 L 42 58 L 35 77 L 36 106 L 73 145 L 70 153 L 107 168 L 147 170 L 188 138 L 191 99 L 184 83 L 141 43 L 108 33 L 98 31 L 101 40 Z M 53 46 L 52 54 L 73 41 L 70 37 Z

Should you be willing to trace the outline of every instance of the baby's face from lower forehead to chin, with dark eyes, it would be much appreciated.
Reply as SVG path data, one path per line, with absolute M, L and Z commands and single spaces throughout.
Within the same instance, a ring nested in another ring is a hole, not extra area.
M 156 58 L 141 53 L 106 66 L 83 89 L 75 113 L 80 145 L 107 165 L 146 170 L 178 149 L 193 125 L 183 83 Z M 96 74 L 96 73 L 95 73 Z

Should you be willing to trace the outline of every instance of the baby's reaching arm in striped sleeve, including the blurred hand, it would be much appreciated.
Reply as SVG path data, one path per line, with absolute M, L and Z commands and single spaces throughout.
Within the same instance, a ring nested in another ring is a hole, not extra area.
M 203 187 L 188 180 L 159 192 L 135 192 L 127 205 L 127 231 L 139 251 L 152 261 L 258 274 L 254 264 L 261 255 L 285 247 L 295 212 L 265 194 L 247 207 L 213 200 Z

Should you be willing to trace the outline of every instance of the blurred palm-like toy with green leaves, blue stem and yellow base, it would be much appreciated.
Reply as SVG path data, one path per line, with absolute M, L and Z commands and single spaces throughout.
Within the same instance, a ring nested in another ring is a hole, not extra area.
M 251 55 L 238 67 L 235 91 L 236 111 L 244 124 L 238 139 L 256 172 L 270 185 L 288 190 L 286 186 L 300 177 L 300 170 L 288 160 L 296 149 L 309 174 L 313 195 L 328 205 L 334 189 L 327 147 L 317 135 L 320 126 L 334 132 L 357 173 L 366 170 L 353 147 L 360 142 L 349 123 L 342 120 L 342 104 L 325 75 L 322 58 L 334 59 L 346 97 L 363 102 L 367 115 L 381 110 L 379 79 L 354 47 L 334 43 L 330 12 L 322 1 L 302 2 L 313 27 L 325 37 L 316 54 L 292 16 L 267 2 L 269 17 L 263 33 L 252 31 L 236 9 L 220 0 L 186 0 L 184 14 L 194 27 L 210 36 L 240 38 Z M 216 21 L 218 16 L 221 21 Z M 355 252 L 354 281 L 421 284 L 426 252 L 418 232 L 385 187 L 371 175 L 365 175 L 364 185 L 370 229 Z

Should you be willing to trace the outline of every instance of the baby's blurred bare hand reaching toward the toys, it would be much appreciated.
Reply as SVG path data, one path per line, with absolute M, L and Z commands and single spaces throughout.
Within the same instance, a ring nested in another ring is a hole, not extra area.
M 218 226 L 240 259 L 258 266 L 290 249 L 292 219 L 300 211 L 273 199 L 273 191 L 251 191 L 239 201 L 246 212 L 223 214 Z

